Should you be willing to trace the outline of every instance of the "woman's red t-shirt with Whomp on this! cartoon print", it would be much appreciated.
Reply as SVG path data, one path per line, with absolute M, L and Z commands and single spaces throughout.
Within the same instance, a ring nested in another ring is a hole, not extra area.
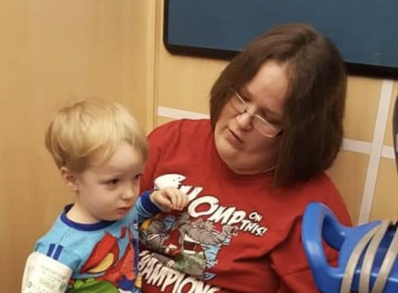
M 350 223 L 325 174 L 283 189 L 271 188 L 272 172 L 237 175 L 218 156 L 207 119 L 162 125 L 149 145 L 141 190 L 175 186 L 190 202 L 141 226 L 143 292 L 318 292 L 301 243 L 305 207 L 323 202 Z

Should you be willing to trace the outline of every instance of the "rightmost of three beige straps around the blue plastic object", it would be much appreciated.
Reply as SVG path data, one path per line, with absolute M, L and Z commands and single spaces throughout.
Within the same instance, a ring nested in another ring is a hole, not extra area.
M 386 256 L 384 257 L 382 266 L 380 267 L 379 275 L 376 278 L 375 285 L 373 285 L 372 293 L 382 293 L 388 278 L 390 276 L 391 270 L 393 269 L 393 265 L 395 259 L 398 254 L 398 229 L 395 231 L 393 240 L 391 240 L 391 244 L 389 249 L 387 250 Z

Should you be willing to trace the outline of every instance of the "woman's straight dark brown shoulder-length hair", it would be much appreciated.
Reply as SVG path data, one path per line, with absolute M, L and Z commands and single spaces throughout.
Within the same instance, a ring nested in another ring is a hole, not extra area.
M 288 65 L 289 91 L 275 165 L 275 185 L 304 181 L 333 163 L 343 139 L 346 73 L 333 43 L 306 24 L 284 24 L 250 43 L 210 91 L 212 126 L 229 99 L 266 62 Z

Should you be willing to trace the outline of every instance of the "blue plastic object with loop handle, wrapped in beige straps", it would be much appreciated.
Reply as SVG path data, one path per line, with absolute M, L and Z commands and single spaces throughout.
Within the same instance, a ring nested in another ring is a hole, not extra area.
M 312 202 L 307 206 L 302 223 L 302 241 L 315 283 L 321 292 L 340 292 L 347 264 L 355 246 L 362 237 L 372 229 L 377 229 L 376 227 L 380 224 L 381 221 L 374 221 L 356 227 L 347 227 L 342 225 L 333 212 L 323 203 Z M 370 289 L 368 292 L 372 292 L 371 289 L 380 273 L 380 268 L 396 230 L 397 224 L 389 226 L 383 238 L 381 238 L 382 240 L 377 248 L 371 274 L 369 276 L 370 284 L 368 286 Z M 331 267 L 327 263 L 322 240 L 339 252 L 337 267 Z M 351 283 L 352 292 L 358 292 L 359 290 L 359 278 L 366 249 L 361 254 L 355 271 L 353 271 Z M 382 292 L 398 293 L 397 255 Z

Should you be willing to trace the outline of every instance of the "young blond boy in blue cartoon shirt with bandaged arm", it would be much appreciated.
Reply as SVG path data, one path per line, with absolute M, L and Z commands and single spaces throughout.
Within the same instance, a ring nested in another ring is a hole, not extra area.
M 86 99 L 62 108 L 45 145 L 76 201 L 36 242 L 22 292 L 139 292 L 138 224 L 159 209 L 183 209 L 187 195 L 166 188 L 138 196 L 147 142 L 118 103 Z

